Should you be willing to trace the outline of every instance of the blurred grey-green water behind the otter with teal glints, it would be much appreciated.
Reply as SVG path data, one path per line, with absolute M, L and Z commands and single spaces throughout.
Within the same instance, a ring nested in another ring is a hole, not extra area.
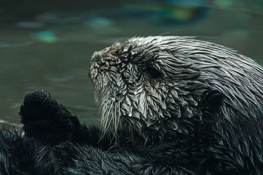
M 96 123 L 90 58 L 131 36 L 196 36 L 263 64 L 263 0 L 0 0 L 0 124 L 36 89 Z

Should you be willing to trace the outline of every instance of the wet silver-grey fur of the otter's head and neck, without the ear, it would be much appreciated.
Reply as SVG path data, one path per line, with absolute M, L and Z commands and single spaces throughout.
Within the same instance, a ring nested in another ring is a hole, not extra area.
M 250 58 L 192 37 L 134 37 L 95 52 L 90 77 L 102 136 L 125 132 L 140 148 L 207 137 L 222 147 L 215 157 L 262 166 L 263 68 Z M 222 101 L 205 119 L 199 102 L 212 90 Z

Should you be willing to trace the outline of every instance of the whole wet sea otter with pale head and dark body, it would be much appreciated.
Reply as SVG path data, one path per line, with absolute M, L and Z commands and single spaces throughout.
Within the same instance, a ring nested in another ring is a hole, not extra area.
M 26 95 L 0 174 L 263 175 L 263 68 L 221 45 L 134 37 L 92 56 L 100 128 Z M 18 158 L 18 159 L 17 159 Z

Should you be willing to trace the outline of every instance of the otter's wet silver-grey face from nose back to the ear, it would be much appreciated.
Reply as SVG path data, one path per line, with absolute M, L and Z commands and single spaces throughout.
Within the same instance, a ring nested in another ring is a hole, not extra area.
M 176 36 L 131 38 L 95 52 L 90 78 L 101 129 L 144 141 L 190 135 L 195 123 L 203 123 L 198 102 L 205 91 L 225 92 L 225 103 L 232 98 L 227 76 L 238 62 L 229 61 L 231 55 L 238 53 Z

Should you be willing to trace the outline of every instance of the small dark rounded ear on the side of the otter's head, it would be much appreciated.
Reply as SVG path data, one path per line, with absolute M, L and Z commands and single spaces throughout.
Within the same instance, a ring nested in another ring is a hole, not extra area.
M 223 94 L 218 90 L 206 91 L 198 104 L 205 116 L 212 116 L 220 106 Z

